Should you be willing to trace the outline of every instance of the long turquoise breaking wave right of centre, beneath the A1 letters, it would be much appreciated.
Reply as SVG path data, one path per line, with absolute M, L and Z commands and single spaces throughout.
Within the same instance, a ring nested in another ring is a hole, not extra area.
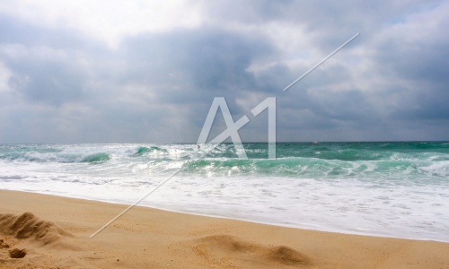
M 427 176 L 447 177 L 448 162 L 431 163 L 413 160 L 341 161 L 318 158 L 283 158 L 277 160 L 188 161 L 182 171 L 207 176 L 277 176 L 294 178 L 377 178 L 401 179 Z

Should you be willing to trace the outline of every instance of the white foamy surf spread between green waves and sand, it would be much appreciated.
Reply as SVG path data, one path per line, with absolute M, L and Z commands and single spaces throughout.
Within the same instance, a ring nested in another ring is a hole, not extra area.
M 180 169 L 186 155 L 195 153 L 194 145 L 164 149 L 149 152 L 147 158 L 131 158 L 136 145 L 66 146 L 64 154 L 105 151 L 112 158 L 101 165 L 0 161 L 0 182 L 4 189 L 132 204 Z M 57 153 L 44 157 L 51 154 Z M 201 173 L 180 172 L 141 204 L 313 230 L 449 242 L 449 161 L 422 162 L 418 163 L 420 178 L 410 176 L 415 172 L 407 170 L 411 167 L 401 171 L 403 178 L 388 178 L 388 173 L 379 171 L 380 161 L 323 167 L 312 160 L 310 166 L 295 167 L 297 173 L 289 177 L 251 172 L 242 176 L 246 169 L 242 167 L 215 172 L 211 163 Z M 313 165 L 320 166 L 322 178 L 298 176 Z M 339 178 L 326 177 L 331 167 L 344 172 Z

